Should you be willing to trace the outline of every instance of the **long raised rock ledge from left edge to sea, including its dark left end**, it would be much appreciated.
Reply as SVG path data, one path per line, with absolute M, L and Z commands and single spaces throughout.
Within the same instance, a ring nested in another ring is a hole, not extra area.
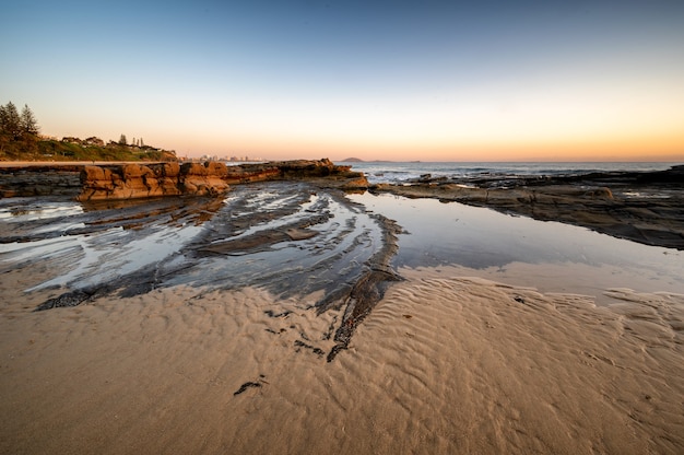
M 271 180 L 316 180 L 326 187 L 365 189 L 363 173 L 328 159 L 249 163 L 98 163 L 0 167 L 0 197 L 73 196 L 80 201 L 162 196 L 223 196 L 231 185 Z

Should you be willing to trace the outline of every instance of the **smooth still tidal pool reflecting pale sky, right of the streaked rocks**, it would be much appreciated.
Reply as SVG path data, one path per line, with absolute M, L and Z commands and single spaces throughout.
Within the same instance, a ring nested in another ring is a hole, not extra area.
M 595 276 L 585 272 L 573 277 L 573 269 L 566 268 L 567 277 L 556 278 L 575 279 L 582 281 L 582 287 L 597 289 L 606 282 L 630 289 L 648 283 L 652 288 L 641 291 L 684 293 L 684 257 L 676 249 L 436 199 L 370 194 L 350 198 L 396 220 L 409 232 L 399 237 L 397 267 L 456 265 L 475 271 L 499 269 L 505 276 L 511 264 L 538 265 L 540 273 L 544 273 L 545 265 L 576 264 L 583 270 L 590 267 Z M 586 282 L 592 279 L 594 283 Z

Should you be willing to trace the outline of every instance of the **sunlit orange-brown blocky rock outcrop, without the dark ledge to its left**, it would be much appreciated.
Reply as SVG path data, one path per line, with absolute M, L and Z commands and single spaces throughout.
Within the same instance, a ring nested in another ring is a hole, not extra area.
M 356 189 L 368 182 L 350 166 L 330 160 L 284 161 L 226 166 L 223 163 L 158 163 L 85 166 L 81 171 L 81 201 L 157 196 L 222 196 L 229 185 L 278 179 L 321 179 L 327 186 Z

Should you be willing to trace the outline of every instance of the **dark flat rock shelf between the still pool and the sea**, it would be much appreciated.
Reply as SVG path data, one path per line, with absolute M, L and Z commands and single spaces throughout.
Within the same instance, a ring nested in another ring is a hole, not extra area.
M 370 190 L 488 207 L 684 249 L 684 166 L 555 177 L 432 179 L 424 175 L 409 185 L 382 184 Z

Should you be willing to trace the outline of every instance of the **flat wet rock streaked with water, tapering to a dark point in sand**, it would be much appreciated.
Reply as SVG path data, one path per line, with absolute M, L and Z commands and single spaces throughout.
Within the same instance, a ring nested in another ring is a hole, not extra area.
M 398 230 L 343 191 L 303 182 L 240 185 L 224 198 L 1 199 L 0 272 L 49 270 L 26 290 L 52 293 L 36 311 L 176 284 L 316 293 L 308 311 L 341 312 L 340 327 L 320 334 L 335 334 L 332 360 L 398 279 Z

